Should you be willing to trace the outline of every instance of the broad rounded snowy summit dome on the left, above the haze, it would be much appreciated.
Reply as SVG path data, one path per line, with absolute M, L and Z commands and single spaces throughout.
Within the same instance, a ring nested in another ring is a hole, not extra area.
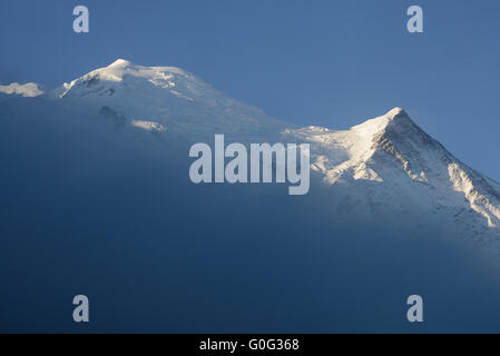
M 285 127 L 179 68 L 143 67 L 124 59 L 65 83 L 56 97 L 70 105 L 95 107 L 118 127 L 169 132 L 186 140 L 220 132 L 262 136 Z

